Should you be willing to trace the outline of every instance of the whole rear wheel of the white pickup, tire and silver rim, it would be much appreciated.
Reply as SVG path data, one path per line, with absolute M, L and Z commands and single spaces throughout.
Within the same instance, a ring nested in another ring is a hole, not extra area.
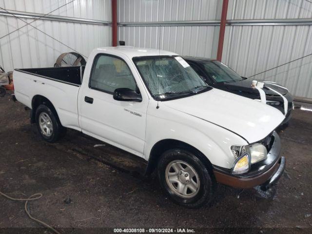
M 44 104 L 36 110 L 36 123 L 41 137 L 47 142 L 53 143 L 66 133 L 55 111 Z

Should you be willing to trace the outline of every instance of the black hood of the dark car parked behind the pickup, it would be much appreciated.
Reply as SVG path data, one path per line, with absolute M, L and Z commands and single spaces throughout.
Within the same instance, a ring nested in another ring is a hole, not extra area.
M 251 94 L 259 95 L 259 91 L 257 89 L 252 88 L 253 80 L 254 79 L 248 78 L 248 79 L 244 79 L 244 80 L 241 80 L 241 81 L 235 81 L 235 82 L 231 82 L 231 83 L 224 83 L 224 86 L 228 90 L 242 91 L 242 92 L 248 92 L 248 93 L 251 93 Z M 288 91 L 286 89 L 280 88 L 280 87 L 278 87 L 276 85 L 273 85 L 273 84 L 265 83 L 263 91 L 268 96 L 279 96 L 279 95 L 277 95 L 276 93 L 274 93 L 273 91 L 271 91 L 269 89 L 266 89 L 265 86 L 268 86 L 268 87 L 274 89 L 275 91 L 279 92 L 282 95 L 286 95 L 288 93 Z

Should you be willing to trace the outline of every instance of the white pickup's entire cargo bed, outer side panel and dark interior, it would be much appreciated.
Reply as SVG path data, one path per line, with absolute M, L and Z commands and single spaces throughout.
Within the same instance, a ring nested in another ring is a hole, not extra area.
M 35 97 L 47 98 L 58 113 L 64 127 L 80 131 L 78 124 L 78 92 L 81 86 L 80 66 L 15 69 L 14 94 L 31 108 Z

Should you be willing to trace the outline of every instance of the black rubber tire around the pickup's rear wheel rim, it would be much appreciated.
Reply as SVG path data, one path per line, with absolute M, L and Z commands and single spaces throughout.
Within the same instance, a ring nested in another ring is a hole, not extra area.
M 40 128 L 39 116 L 41 113 L 46 114 L 51 120 L 51 123 L 53 126 L 53 131 L 52 131 L 50 136 L 47 136 L 47 134 L 45 134 L 42 131 L 42 129 Z M 61 137 L 65 136 L 66 128 L 64 128 L 61 125 L 61 123 L 59 121 L 58 114 L 56 113 L 56 111 L 53 108 L 51 108 L 47 105 L 44 105 L 44 104 L 39 105 L 38 108 L 36 109 L 35 118 L 36 118 L 36 124 L 37 124 L 38 131 L 40 133 L 40 136 L 45 141 L 47 141 L 49 143 L 53 143 L 53 142 L 56 142 L 57 140 L 59 140 Z

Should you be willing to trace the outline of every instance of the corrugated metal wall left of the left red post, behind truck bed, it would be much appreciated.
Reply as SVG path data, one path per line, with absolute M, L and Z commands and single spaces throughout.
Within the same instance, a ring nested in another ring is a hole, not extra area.
M 0 0 L 0 6 L 8 10 L 46 14 L 67 2 L 70 0 Z M 75 0 L 52 15 L 111 21 L 111 0 Z M 22 19 L 28 23 L 33 21 Z M 25 24 L 14 17 L 0 16 L 0 37 Z M 96 47 L 110 46 L 112 43 L 111 26 L 50 20 L 37 20 L 33 25 L 85 56 Z M 6 71 L 53 66 L 61 53 L 70 51 L 28 25 L 0 39 L 0 65 Z

